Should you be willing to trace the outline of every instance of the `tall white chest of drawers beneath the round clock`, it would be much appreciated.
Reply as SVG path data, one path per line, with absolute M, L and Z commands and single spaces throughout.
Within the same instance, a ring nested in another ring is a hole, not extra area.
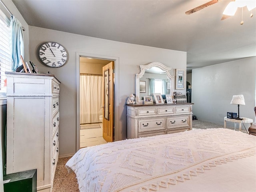
M 37 169 L 37 190 L 51 192 L 59 154 L 60 82 L 52 74 L 6 76 L 6 173 Z

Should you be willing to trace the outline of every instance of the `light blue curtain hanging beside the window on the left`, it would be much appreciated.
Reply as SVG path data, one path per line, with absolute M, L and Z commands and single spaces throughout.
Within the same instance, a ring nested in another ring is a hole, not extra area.
M 12 56 L 12 71 L 16 71 L 18 66 L 22 65 L 20 56 L 24 58 L 24 36 L 22 31 L 21 23 L 15 18 L 11 17 L 10 22 L 10 31 L 11 31 L 11 56 Z

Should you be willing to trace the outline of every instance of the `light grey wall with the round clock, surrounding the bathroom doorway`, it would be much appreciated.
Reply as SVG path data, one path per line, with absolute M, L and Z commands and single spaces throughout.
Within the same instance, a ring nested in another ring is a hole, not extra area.
M 171 68 L 186 70 L 186 52 L 115 42 L 56 30 L 29 26 L 30 60 L 40 72 L 55 74 L 60 84 L 60 156 L 76 152 L 76 52 L 119 58 L 118 122 L 120 138 L 127 135 L 126 99 L 135 92 L 135 74 L 139 66 L 160 62 Z M 60 68 L 41 64 L 37 50 L 46 41 L 62 44 L 69 54 L 68 62 Z

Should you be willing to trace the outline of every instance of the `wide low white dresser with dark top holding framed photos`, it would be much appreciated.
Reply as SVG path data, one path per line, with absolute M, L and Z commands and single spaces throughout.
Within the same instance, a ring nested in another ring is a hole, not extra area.
M 192 105 L 127 105 L 127 138 L 140 138 L 192 130 Z

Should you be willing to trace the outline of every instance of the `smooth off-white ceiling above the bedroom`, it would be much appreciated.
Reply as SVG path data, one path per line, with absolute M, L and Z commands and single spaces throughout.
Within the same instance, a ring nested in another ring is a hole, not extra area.
M 226 20 L 230 0 L 186 15 L 210 0 L 12 0 L 28 25 L 187 52 L 194 68 L 256 56 L 256 9 Z

